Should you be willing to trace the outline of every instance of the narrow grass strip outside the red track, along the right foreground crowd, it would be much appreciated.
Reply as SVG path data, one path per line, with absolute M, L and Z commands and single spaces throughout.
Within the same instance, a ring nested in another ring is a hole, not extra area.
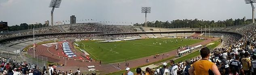
M 220 44 L 219 41 L 214 41 L 212 43 L 214 43 L 214 44 L 207 46 L 207 48 L 214 49 L 216 46 L 218 46 Z M 187 59 L 190 59 L 190 58 L 195 58 L 196 56 L 199 56 L 199 55 L 200 55 L 200 52 L 199 51 L 195 51 L 195 52 L 192 52 L 190 54 L 187 54 L 186 56 L 183 56 L 181 58 L 178 58 L 178 59 L 174 60 L 174 62 L 177 63 L 177 62 L 184 61 L 184 60 L 187 60 Z M 150 63 L 148 65 L 157 64 L 157 63 L 161 63 L 161 62 L 164 62 L 164 61 L 167 61 L 167 60 L 171 60 L 174 57 L 175 56 L 173 56 L 171 58 L 166 58 L 165 60 L 160 60 L 160 61 L 157 61 L 157 62 L 154 62 L 154 63 Z M 140 67 L 145 67 L 145 66 L 148 66 L 148 65 L 142 65 Z M 168 63 L 168 66 L 169 66 L 169 63 Z M 163 67 L 163 65 L 160 65 L 159 67 Z M 135 69 L 137 69 L 137 68 L 138 67 L 131 68 L 131 71 L 136 74 Z M 122 75 L 122 73 L 125 73 L 125 72 L 126 71 L 123 70 L 123 71 L 118 71 L 118 72 L 115 72 L 115 73 L 110 73 L 110 74 L 107 74 L 107 75 Z

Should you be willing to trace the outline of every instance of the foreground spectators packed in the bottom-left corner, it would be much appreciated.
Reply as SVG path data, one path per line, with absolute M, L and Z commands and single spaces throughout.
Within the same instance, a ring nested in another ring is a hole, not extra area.
M 48 65 L 48 67 L 38 67 L 27 62 L 16 62 L 11 58 L 0 57 L 0 74 L 1 75 L 96 75 L 96 73 L 83 74 L 80 69 L 72 72 L 60 71 L 56 69 L 55 65 Z

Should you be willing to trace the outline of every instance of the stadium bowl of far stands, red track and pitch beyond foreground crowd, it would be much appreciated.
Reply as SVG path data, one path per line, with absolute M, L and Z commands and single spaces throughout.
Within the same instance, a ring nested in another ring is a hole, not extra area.
M 91 24 L 98 27 L 90 27 Z M 243 27 L 248 26 L 250 27 L 250 25 Z M 203 47 L 215 42 L 213 43 L 216 44 L 215 47 L 224 47 L 224 45 L 220 46 L 221 44 L 228 46 L 224 42 L 231 42 L 230 39 L 235 39 L 231 37 L 237 37 L 239 39 L 243 36 L 241 33 L 233 31 L 242 29 L 241 27 L 237 27 L 226 27 L 222 30 L 207 30 L 206 33 L 201 33 L 204 30 L 102 25 L 100 23 L 60 25 L 34 30 L 36 33 L 36 56 L 34 60 L 33 31 L 2 37 L 1 51 L 4 58 L 12 58 L 19 62 L 25 60 L 29 63 L 39 63 L 38 65 L 47 66 L 47 63 L 43 62 L 47 60 L 47 62 L 58 66 L 58 70 L 76 71 L 76 69 L 80 68 L 82 73 L 88 72 L 87 66 L 94 66 L 99 73 L 108 74 L 125 69 L 125 63 L 129 63 L 129 67 L 138 67 L 148 65 L 149 63 L 146 62 L 146 59 L 149 62 L 157 62 L 167 58 L 182 58 L 181 56 L 198 51 L 199 47 L 195 46 L 199 45 Z M 91 30 L 88 30 L 88 28 Z M 102 31 L 101 28 L 106 30 Z M 119 31 L 115 31 L 117 29 Z M 44 31 L 48 32 L 45 33 Z M 220 38 L 222 39 L 220 40 Z M 69 51 L 72 54 L 74 53 L 73 55 L 75 56 L 64 52 L 66 48 L 63 47 L 63 42 L 68 42 Z M 191 47 L 195 47 L 197 49 L 185 51 L 185 47 L 190 47 L 190 49 Z M 178 49 L 184 52 L 177 54 Z M 22 52 L 27 51 L 27 55 L 32 58 L 18 54 L 17 52 L 21 50 L 23 50 Z M 120 67 L 118 66 L 119 63 L 121 64 Z M 158 66 L 152 66 L 152 68 Z

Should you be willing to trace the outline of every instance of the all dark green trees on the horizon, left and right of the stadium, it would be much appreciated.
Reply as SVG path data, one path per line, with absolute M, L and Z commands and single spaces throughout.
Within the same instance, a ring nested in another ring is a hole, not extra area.
M 227 27 L 227 26 L 234 26 L 234 25 L 247 25 L 252 23 L 252 19 L 226 19 L 224 21 L 204 21 L 198 19 L 177 19 L 173 21 L 152 21 L 147 22 L 147 27 L 160 27 L 160 28 L 200 28 L 200 27 Z M 40 28 L 40 27 L 48 27 L 49 25 L 45 25 L 42 23 L 28 25 L 27 23 L 21 23 L 20 25 L 13 25 L 8 26 L 8 31 L 19 31 L 25 29 L 33 29 L 33 28 Z M 142 26 L 145 27 L 145 23 L 135 23 L 133 26 Z

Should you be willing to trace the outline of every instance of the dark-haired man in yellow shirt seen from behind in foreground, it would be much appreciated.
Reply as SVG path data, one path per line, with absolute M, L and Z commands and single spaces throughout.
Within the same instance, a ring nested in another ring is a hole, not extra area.
M 200 50 L 201 60 L 196 61 L 192 67 L 190 67 L 189 75 L 220 75 L 218 67 L 209 61 L 210 50 L 205 47 Z

